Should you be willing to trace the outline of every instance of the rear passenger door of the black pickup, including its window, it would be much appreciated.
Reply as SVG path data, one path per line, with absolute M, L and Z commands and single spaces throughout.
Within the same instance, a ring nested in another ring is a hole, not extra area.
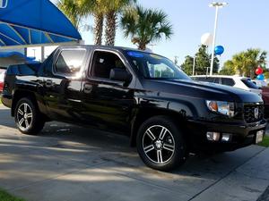
M 80 121 L 82 71 L 86 48 L 62 48 L 54 55 L 43 77 L 48 113 L 63 121 Z

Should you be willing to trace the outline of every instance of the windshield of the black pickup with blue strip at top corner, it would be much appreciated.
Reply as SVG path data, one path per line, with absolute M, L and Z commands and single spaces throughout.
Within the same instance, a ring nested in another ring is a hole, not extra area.
M 191 80 L 177 65 L 163 56 L 138 51 L 127 51 L 127 54 L 145 79 Z

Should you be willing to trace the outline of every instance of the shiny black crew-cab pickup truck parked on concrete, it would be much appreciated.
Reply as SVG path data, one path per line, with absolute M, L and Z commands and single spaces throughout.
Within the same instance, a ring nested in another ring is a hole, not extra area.
M 46 121 L 123 133 L 161 171 L 190 152 L 256 144 L 266 125 L 260 96 L 193 81 L 161 55 L 124 47 L 63 46 L 44 63 L 13 65 L 2 101 L 22 133 Z

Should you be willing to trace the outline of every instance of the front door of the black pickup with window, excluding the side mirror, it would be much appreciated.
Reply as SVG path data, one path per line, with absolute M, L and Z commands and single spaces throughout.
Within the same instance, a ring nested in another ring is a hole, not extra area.
M 129 71 L 123 55 L 113 50 L 92 53 L 90 70 L 82 84 L 82 118 L 105 130 L 128 130 L 134 109 L 134 75 L 124 83 L 109 79 L 113 68 Z

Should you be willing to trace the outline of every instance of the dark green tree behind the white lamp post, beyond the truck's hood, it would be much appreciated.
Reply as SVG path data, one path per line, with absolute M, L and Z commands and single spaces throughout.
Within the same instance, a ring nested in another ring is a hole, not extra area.
M 207 54 L 207 46 L 200 46 L 195 54 L 195 74 L 205 75 L 210 67 L 211 55 Z M 181 65 L 183 71 L 188 75 L 193 73 L 194 58 L 190 55 L 186 56 L 185 62 Z M 217 57 L 214 58 L 213 73 L 219 71 L 220 61 Z

